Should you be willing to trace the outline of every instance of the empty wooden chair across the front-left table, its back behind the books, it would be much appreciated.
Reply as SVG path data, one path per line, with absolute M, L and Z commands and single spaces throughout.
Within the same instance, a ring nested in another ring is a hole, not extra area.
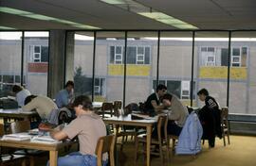
M 10 124 L 11 133 L 27 132 L 30 129 L 29 121 L 16 121 Z M 29 165 L 35 165 L 35 158 L 45 157 L 46 151 L 35 150 L 35 149 L 21 149 L 14 152 L 14 155 L 26 155 L 29 158 Z

